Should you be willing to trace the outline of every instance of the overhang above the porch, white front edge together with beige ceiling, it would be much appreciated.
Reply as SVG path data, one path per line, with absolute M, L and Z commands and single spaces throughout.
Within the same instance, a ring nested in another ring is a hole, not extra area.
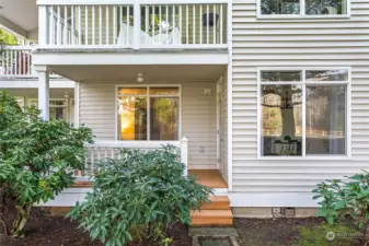
M 77 82 L 136 82 L 138 73 L 143 74 L 145 82 L 175 83 L 178 79 L 216 81 L 227 69 L 224 58 L 211 55 L 199 58 L 198 55 L 175 56 L 173 54 L 163 56 L 158 54 L 117 54 L 106 57 L 105 55 L 83 54 L 70 58 L 62 56 L 50 56 L 49 58 L 47 67 L 50 71 Z M 43 59 L 39 56 L 34 59 L 34 62 L 42 63 Z

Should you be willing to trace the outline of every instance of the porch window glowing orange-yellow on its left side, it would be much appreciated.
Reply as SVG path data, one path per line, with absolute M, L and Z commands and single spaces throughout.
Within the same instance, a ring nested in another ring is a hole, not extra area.
M 178 140 L 180 87 L 118 87 L 118 140 Z

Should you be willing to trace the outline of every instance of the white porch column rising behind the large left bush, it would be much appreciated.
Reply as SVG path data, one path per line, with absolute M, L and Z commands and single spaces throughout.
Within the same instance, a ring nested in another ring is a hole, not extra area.
M 38 74 L 38 108 L 42 110 L 41 117 L 49 120 L 49 71 L 46 66 L 35 67 Z

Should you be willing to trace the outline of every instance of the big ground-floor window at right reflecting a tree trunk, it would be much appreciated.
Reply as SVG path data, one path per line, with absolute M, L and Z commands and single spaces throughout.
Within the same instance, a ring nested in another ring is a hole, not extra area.
M 347 155 L 348 69 L 261 70 L 260 156 Z

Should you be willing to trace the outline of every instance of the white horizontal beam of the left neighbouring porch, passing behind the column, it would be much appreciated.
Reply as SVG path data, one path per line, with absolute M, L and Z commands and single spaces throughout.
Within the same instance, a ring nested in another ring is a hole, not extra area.
M 64 87 L 74 87 L 76 83 L 70 80 L 50 80 L 50 87 L 53 89 L 64 89 Z M 32 89 L 38 87 L 38 80 L 0 80 L 1 89 Z

